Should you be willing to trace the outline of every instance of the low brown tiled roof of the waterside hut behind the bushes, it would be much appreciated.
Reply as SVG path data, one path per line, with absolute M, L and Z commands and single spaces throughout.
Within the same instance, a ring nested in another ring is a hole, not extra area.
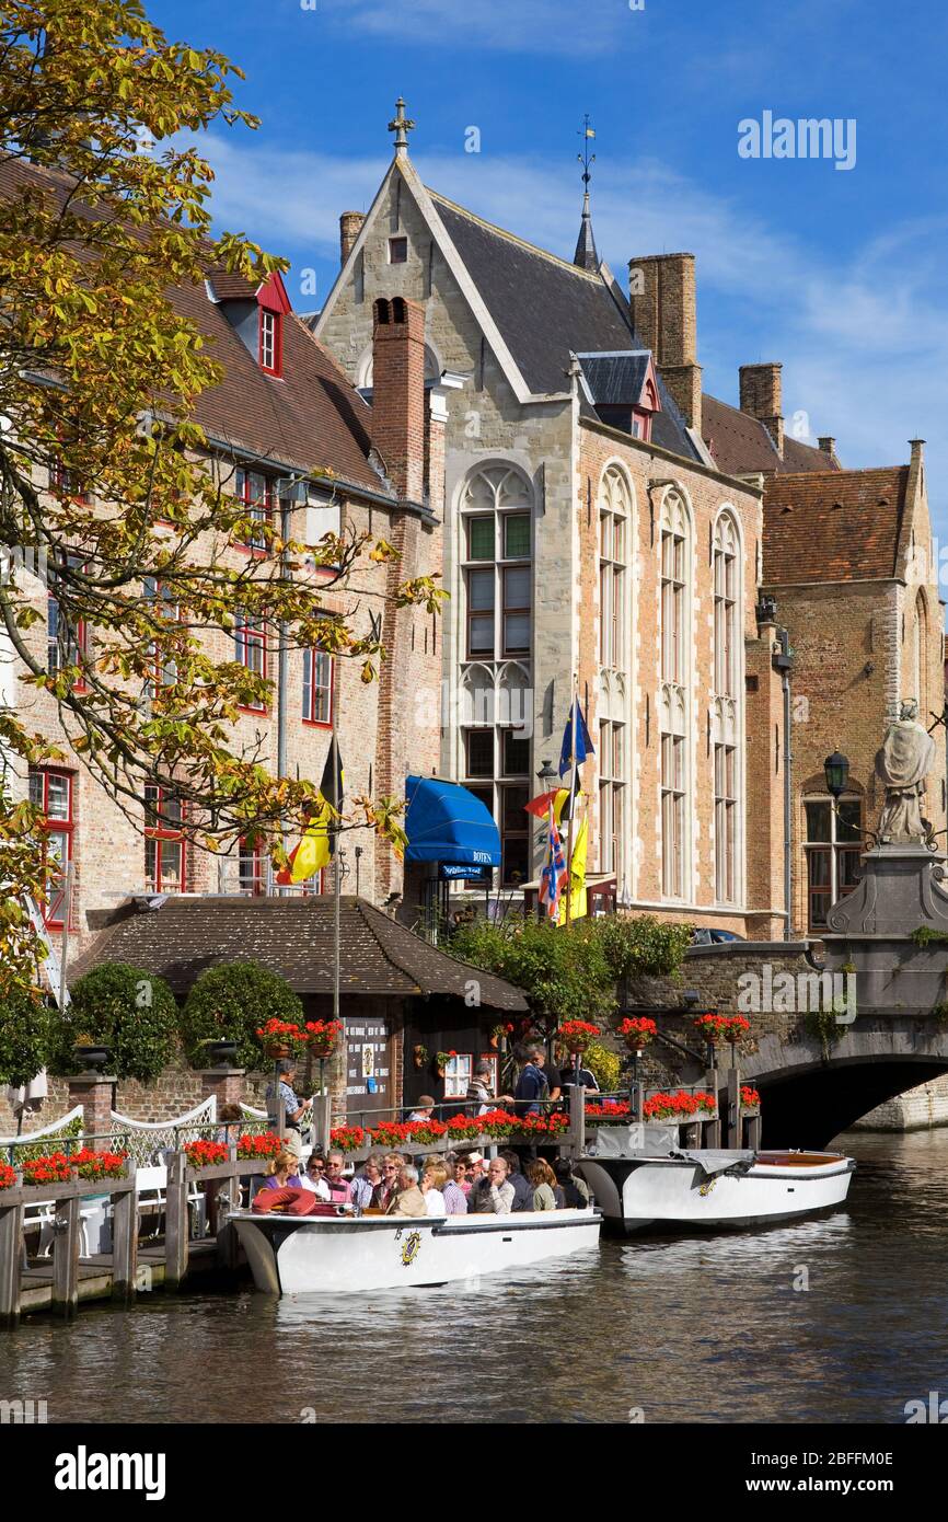
M 204 968 L 247 960 L 280 973 L 297 994 L 332 994 L 332 898 L 172 896 L 155 910 L 123 904 L 72 976 L 102 962 L 131 962 L 184 994 Z M 488 1009 L 528 1008 L 513 983 L 458 962 L 364 898 L 341 901 L 341 970 L 342 994 L 464 998 L 476 979 Z

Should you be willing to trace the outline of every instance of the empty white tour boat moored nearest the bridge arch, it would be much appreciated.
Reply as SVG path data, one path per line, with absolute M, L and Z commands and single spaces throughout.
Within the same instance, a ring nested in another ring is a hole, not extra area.
M 679 1149 L 665 1134 L 663 1155 L 656 1135 L 624 1152 L 603 1128 L 596 1155 L 577 1163 L 607 1222 L 628 1233 L 770 1225 L 841 1205 L 855 1170 L 841 1152 Z

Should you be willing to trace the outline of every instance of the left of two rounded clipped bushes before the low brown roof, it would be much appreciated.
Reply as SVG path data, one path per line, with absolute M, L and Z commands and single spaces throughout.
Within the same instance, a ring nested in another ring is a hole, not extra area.
M 72 1005 L 53 1024 L 53 1065 L 78 1071 L 73 1046 L 91 1038 L 113 1049 L 116 1078 L 149 1084 L 172 1059 L 178 1033 L 178 1005 L 163 977 L 128 962 L 103 962 L 85 973 L 72 989 Z

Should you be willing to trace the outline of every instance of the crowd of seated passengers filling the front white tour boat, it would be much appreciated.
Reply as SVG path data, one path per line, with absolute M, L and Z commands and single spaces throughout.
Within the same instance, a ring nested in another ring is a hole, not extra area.
M 278 1152 L 265 1189 L 301 1189 L 326 1204 L 355 1205 L 387 1216 L 507 1216 L 517 1210 L 586 1210 L 589 1189 L 566 1158 L 552 1166 L 542 1157 L 520 1167 L 505 1151 L 438 1152 L 409 1163 L 400 1152 L 371 1152 L 355 1177 L 344 1173 L 341 1152 L 310 1152 L 303 1166 L 291 1151 Z

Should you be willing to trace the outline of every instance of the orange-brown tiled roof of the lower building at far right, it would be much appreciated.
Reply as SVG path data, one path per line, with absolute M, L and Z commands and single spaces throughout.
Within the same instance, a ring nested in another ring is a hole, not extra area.
M 764 493 L 764 586 L 896 572 L 908 466 L 776 475 Z

